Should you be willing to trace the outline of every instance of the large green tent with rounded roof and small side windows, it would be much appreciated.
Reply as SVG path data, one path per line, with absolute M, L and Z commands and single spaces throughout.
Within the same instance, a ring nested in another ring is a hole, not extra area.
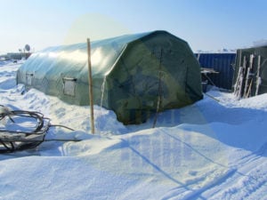
M 189 44 L 166 31 L 94 41 L 91 62 L 94 104 L 114 110 L 124 124 L 203 98 L 198 60 Z M 88 105 L 86 44 L 34 53 L 19 68 L 17 83 Z

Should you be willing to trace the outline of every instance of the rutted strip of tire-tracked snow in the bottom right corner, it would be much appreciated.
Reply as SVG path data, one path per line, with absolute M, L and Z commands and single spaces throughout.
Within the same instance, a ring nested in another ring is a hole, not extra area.
M 264 199 L 263 192 L 267 191 L 267 142 L 257 151 L 241 157 L 236 169 L 232 169 L 203 188 L 187 191 L 177 188 L 168 193 L 166 199 Z M 183 196 L 183 197 L 182 197 Z M 212 197 L 211 197 L 212 196 Z

